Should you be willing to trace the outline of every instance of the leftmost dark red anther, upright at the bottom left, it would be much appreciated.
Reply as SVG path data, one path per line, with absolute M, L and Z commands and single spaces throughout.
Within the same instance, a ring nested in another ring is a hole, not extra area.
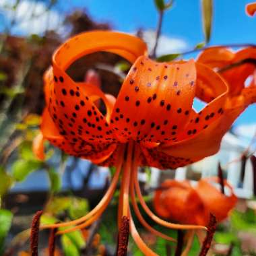
M 32 220 L 31 233 L 30 233 L 30 252 L 32 256 L 38 256 L 38 234 L 40 217 L 42 216 L 42 211 L 36 212 Z

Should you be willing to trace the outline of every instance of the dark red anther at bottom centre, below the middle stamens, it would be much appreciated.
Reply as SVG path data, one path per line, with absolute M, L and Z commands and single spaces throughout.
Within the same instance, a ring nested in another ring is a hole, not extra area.
M 117 256 L 126 256 L 129 241 L 129 218 L 122 216 L 121 226 L 119 229 Z

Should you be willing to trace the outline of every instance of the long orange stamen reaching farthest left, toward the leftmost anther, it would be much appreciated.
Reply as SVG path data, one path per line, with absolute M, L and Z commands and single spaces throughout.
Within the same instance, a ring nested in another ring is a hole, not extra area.
M 108 188 L 108 191 L 106 191 L 105 195 L 100 200 L 100 203 L 98 203 L 98 205 L 96 205 L 96 207 L 94 207 L 94 209 L 91 212 L 86 214 L 86 216 L 84 216 L 82 218 L 79 218 L 77 220 L 72 220 L 71 222 L 44 225 L 44 226 L 41 226 L 40 228 L 41 229 L 59 228 L 59 227 L 73 226 L 73 225 L 76 225 L 76 224 L 80 224 L 82 222 L 85 222 L 86 220 L 88 220 L 92 216 L 94 216 L 101 209 L 105 209 L 107 207 L 108 203 L 110 202 L 111 198 L 113 197 L 113 193 L 115 192 L 115 188 L 117 187 L 117 182 L 119 180 L 119 174 L 121 172 L 121 166 L 123 164 L 123 150 L 124 150 L 124 148 L 121 147 L 120 152 L 119 152 L 121 157 L 119 158 L 119 162 L 117 164 L 117 169 L 116 169 L 115 175 L 113 177 L 113 181 L 112 181 L 112 183 L 110 184 L 110 186 Z

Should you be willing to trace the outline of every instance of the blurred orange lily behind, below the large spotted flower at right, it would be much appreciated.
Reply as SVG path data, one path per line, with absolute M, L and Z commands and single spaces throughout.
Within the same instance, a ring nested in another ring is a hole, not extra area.
M 156 191 L 154 196 L 156 213 L 181 224 L 205 226 L 210 213 L 216 216 L 218 222 L 222 222 L 234 208 L 237 198 L 226 181 L 224 184 L 230 189 L 230 196 L 222 194 L 210 183 L 211 180 L 218 181 L 218 178 L 201 179 L 196 187 L 189 181 L 164 181 L 162 189 Z

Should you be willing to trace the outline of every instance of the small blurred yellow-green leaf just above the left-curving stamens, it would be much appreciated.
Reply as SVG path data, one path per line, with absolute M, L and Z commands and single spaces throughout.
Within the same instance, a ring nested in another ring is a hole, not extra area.
M 71 219 L 76 220 L 85 216 L 88 213 L 89 204 L 84 198 L 73 198 L 69 206 L 69 216 Z

